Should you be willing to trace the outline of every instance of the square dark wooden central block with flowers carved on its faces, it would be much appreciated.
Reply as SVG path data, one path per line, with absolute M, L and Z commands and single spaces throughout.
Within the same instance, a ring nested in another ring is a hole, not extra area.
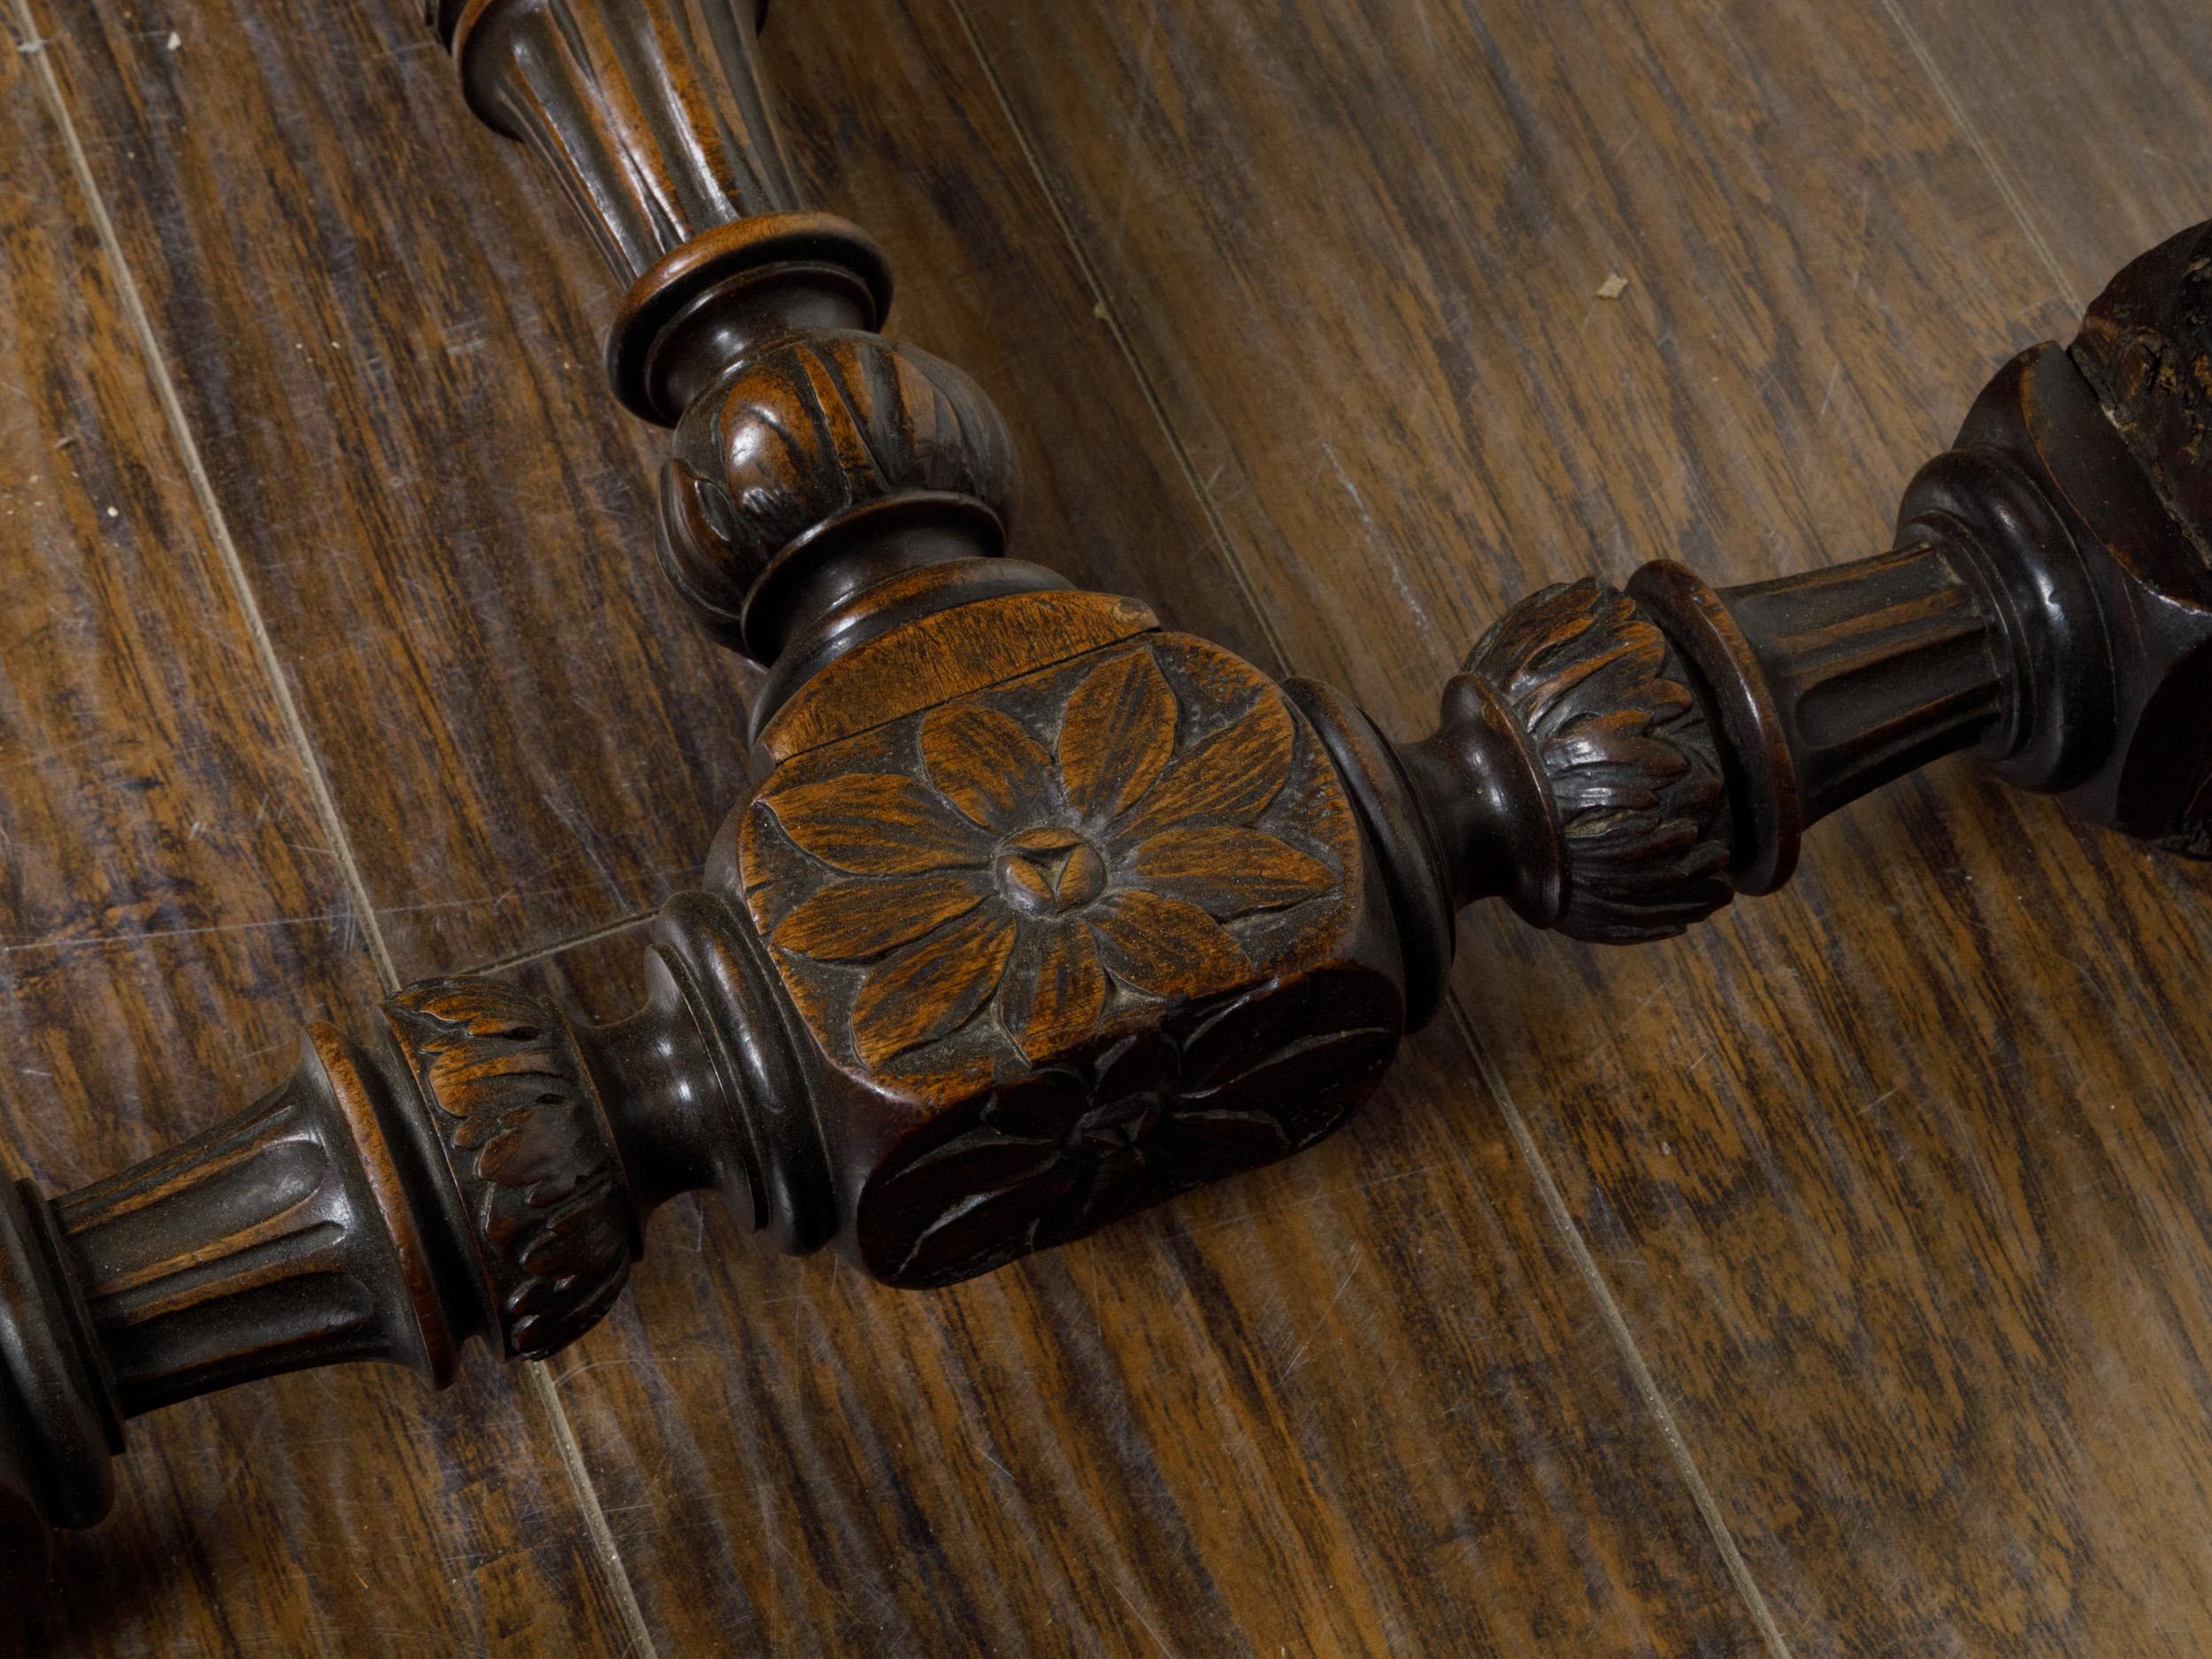
M 1248 664 L 1148 635 L 787 761 L 752 920 L 849 1084 L 854 1239 L 949 1283 L 1334 1128 L 1402 1002 L 1358 827 Z

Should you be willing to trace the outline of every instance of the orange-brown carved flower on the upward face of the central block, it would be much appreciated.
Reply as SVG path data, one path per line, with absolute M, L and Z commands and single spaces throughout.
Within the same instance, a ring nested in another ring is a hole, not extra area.
M 748 902 L 845 1053 L 929 1091 L 1055 1066 L 1332 925 L 1340 803 L 1310 770 L 1292 785 L 1287 699 L 1234 659 L 1179 668 L 1203 657 L 1164 639 L 1077 659 L 887 721 L 852 772 L 825 748 L 805 783 L 770 785 L 745 818 L 772 836 Z

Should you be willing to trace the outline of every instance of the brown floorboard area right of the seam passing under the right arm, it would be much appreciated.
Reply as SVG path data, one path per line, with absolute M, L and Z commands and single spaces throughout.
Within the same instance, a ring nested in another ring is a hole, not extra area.
M 1953 400 L 2201 206 L 2166 161 L 2212 75 L 2177 9 L 971 15 L 1290 655 L 1407 726 L 1531 580 L 1865 546 Z M 1192 301 L 1223 265 L 1267 272 L 1248 338 Z M 1367 655 L 1380 617 L 1402 646 Z M 1942 768 L 1701 940 L 1473 931 L 1460 1018 L 1770 1648 L 2203 1646 L 2203 872 Z

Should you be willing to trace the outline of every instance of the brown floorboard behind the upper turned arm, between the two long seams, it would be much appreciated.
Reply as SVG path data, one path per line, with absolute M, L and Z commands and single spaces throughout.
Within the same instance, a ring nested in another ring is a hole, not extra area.
M 745 783 L 748 672 L 661 588 L 661 440 L 606 398 L 619 294 L 551 184 L 469 115 L 405 4 L 204 0 L 177 51 L 111 7 L 33 15 L 358 830 L 396 975 L 549 945 L 690 880 Z M 1042 226 L 1009 223 L 973 164 L 916 190 L 916 131 L 945 157 L 991 153 L 956 82 L 933 82 L 958 51 L 907 71 L 929 88 L 918 124 L 887 106 L 869 133 L 818 33 L 807 73 L 776 58 L 823 113 L 792 124 L 794 148 L 818 199 L 900 250 L 914 338 L 984 347 L 962 356 L 984 385 L 1064 352 L 1022 254 L 975 265 Z M 869 38 L 918 44 L 894 20 Z M 1190 580 L 1206 529 L 1166 462 L 1117 438 L 1150 429 L 1135 387 L 1029 378 L 1002 407 L 1024 531 L 1055 568 L 1091 582 L 1137 549 L 1141 586 L 1179 588 L 1201 633 L 1256 635 L 1221 575 Z M 1102 447 L 1133 471 L 1084 465 Z

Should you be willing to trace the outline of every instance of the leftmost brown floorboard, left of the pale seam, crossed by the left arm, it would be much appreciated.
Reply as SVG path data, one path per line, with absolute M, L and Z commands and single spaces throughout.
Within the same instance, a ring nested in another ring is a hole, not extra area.
M 13 44 L 0 150 L 0 1135 L 66 1186 L 199 1128 L 181 1077 L 263 1082 L 301 1000 L 376 973 Z M 137 1425 L 117 1526 L 64 1544 L 0 1650 L 619 1652 L 540 1407 L 500 1376 L 425 1398 L 354 1371 Z

